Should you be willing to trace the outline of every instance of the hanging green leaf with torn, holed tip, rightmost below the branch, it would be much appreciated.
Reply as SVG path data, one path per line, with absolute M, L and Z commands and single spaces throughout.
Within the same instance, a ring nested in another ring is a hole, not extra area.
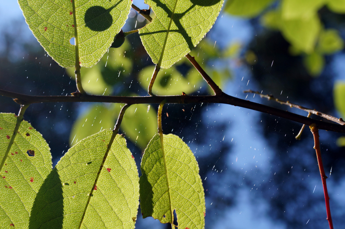
M 168 223 L 173 217 L 170 212 L 175 210 L 179 228 L 204 228 L 205 194 L 194 154 L 172 134 L 164 135 L 164 150 L 165 158 L 157 134 L 142 157 L 139 184 L 143 217 Z

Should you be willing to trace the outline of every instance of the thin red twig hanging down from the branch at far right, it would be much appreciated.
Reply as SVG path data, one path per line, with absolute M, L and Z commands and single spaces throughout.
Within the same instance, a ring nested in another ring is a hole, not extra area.
M 326 212 L 327 212 L 327 220 L 329 224 L 329 229 L 333 229 L 333 222 L 331 217 L 331 208 L 329 207 L 329 196 L 327 192 L 327 185 L 326 185 L 326 174 L 325 170 L 322 164 L 322 158 L 321 158 L 321 150 L 320 150 L 320 142 L 319 142 L 319 130 L 315 124 L 312 124 L 309 126 L 311 132 L 314 136 L 314 149 L 316 151 L 316 157 L 317 157 L 317 163 L 319 165 L 321 180 L 322 180 L 322 187 L 324 189 L 324 195 L 325 195 L 325 202 L 326 202 Z

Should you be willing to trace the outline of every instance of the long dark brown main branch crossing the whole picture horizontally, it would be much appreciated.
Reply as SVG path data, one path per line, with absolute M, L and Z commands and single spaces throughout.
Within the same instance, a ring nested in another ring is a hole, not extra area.
M 167 96 L 103 96 L 103 95 L 89 95 L 75 93 L 75 96 L 34 96 L 24 95 L 15 92 L 9 92 L 0 89 L 0 95 L 14 98 L 18 104 L 25 105 L 31 103 L 50 103 L 50 102 L 100 102 L 100 103 L 126 103 L 126 104 L 142 104 L 142 103 L 160 103 L 162 100 L 167 100 L 167 103 L 223 103 L 233 106 L 240 106 L 250 110 L 260 111 L 266 114 L 275 115 L 291 121 L 302 123 L 305 125 L 312 125 L 316 123 L 319 129 L 326 131 L 334 131 L 345 133 L 345 125 L 329 123 L 314 118 L 308 118 L 302 115 L 294 114 L 288 111 L 283 111 L 274 107 L 266 106 L 259 103 L 254 103 L 248 100 L 242 100 L 234 96 L 225 94 L 219 95 L 167 95 Z

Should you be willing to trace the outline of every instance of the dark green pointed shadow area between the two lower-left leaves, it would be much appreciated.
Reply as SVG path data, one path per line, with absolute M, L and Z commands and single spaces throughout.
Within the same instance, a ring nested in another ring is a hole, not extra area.
M 33 202 L 29 229 L 62 228 L 63 196 L 58 170 L 53 169 L 43 181 Z

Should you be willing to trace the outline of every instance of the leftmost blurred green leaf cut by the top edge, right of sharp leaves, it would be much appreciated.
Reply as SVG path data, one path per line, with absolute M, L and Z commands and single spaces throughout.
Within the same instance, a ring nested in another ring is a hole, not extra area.
M 266 9 L 273 0 L 229 0 L 225 5 L 225 12 L 241 16 L 256 17 Z

